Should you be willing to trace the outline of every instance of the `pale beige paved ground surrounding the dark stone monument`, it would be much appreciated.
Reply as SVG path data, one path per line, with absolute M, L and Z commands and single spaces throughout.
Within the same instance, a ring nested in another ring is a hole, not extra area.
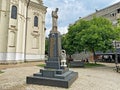
M 78 79 L 69 89 L 27 85 L 26 76 L 39 72 L 40 67 L 13 67 L 4 69 L 0 74 L 0 90 L 120 90 L 120 73 L 113 70 L 114 65 L 106 64 L 105 67 L 96 68 L 71 68 L 78 72 Z

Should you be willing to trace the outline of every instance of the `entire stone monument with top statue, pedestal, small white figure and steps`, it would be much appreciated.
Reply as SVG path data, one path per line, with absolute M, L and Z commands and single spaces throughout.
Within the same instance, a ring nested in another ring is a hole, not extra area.
M 52 30 L 49 35 L 49 55 L 46 66 L 39 73 L 26 78 L 27 84 L 40 84 L 68 88 L 78 77 L 66 65 L 66 52 L 61 49 L 60 32 L 57 30 L 58 8 L 52 11 Z

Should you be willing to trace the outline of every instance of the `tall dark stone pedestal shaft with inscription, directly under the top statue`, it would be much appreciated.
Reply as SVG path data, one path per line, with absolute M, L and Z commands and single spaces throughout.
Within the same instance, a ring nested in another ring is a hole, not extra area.
M 60 33 L 56 30 L 52 30 L 49 34 L 49 58 L 46 60 L 46 69 L 60 69 L 60 52 Z

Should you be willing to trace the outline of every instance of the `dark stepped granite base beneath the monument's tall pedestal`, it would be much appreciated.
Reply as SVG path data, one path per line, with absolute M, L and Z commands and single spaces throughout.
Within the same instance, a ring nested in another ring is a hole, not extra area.
M 39 73 L 26 78 L 27 84 L 38 84 L 69 88 L 77 79 L 78 73 L 69 69 L 41 69 Z

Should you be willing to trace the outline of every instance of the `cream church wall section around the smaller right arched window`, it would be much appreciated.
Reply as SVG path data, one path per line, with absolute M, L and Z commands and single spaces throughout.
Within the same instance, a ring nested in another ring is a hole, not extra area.
M 27 34 L 27 59 L 44 59 L 44 53 L 42 48 L 44 48 L 44 14 L 41 13 L 40 10 L 34 7 L 29 7 L 28 14 L 28 34 Z M 38 27 L 34 26 L 34 17 L 38 17 Z M 29 44 L 32 42 L 32 44 Z

